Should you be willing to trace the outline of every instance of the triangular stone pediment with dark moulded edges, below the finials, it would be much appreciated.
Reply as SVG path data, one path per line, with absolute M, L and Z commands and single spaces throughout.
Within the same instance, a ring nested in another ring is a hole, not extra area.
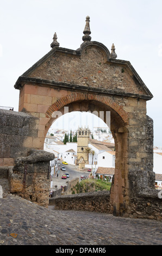
M 107 47 L 96 41 L 83 42 L 77 50 L 53 47 L 18 78 L 15 88 L 29 82 L 146 100 L 153 97 L 130 62 L 111 58 Z

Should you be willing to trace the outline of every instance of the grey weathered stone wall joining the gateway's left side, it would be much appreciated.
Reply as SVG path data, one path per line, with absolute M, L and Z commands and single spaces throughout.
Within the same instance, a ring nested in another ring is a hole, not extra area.
M 30 114 L 0 109 L 0 166 L 14 166 L 14 160 L 27 156 L 38 136 L 38 119 Z

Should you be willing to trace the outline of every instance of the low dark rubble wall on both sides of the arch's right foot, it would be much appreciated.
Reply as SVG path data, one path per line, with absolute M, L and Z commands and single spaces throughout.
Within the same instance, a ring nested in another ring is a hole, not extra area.
M 60 196 L 49 199 L 49 205 L 55 210 L 96 211 L 112 214 L 109 191 L 89 192 Z M 122 217 L 148 218 L 162 221 L 162 205 L 160 198 L 136 197 L 130 200 L 127 212 Z

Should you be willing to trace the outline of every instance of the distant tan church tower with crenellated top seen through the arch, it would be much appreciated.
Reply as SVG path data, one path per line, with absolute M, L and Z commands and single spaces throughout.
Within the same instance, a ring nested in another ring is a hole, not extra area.
M 90 139 L 90 129 L 89 127 L 78 127 L 78 136 L 77 136 L 77 156 L 78 161 L 84 159 L 85 164 L 88 164 L 88 154 L 85 152 L 85 149 L 88 148 L 89 139 Z

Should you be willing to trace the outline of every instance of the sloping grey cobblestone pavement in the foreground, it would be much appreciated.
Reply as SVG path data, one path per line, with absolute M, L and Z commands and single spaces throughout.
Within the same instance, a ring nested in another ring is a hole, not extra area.
M 160 221 L 43 208 L 9 194 L 0 199 L 0 245 L 162 245 Z

